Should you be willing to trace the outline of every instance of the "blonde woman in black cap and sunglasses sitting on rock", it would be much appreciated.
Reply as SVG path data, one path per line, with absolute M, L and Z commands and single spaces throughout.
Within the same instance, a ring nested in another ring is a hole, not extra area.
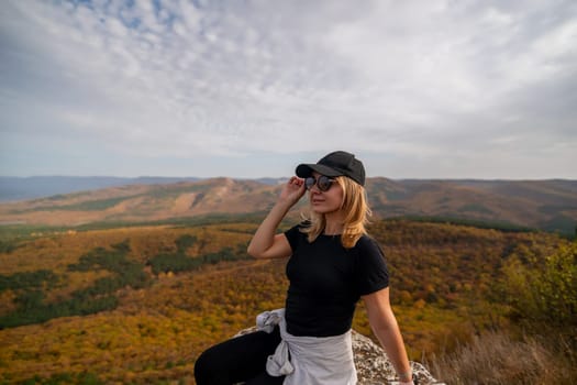
M 351 326 L 359 298 L 400 384 L 413 384 L 382 253 L 365 230 L 363 163 L 337 151 L 299 165 L 296 174 L 248 245 L 254 257 L 290 256 L 286 307 L 260 315 L 262 331 L 203 352 L 195 366 L 197 384 L 355 384 Z M 277 233 L 306 190 L 310 220 Z

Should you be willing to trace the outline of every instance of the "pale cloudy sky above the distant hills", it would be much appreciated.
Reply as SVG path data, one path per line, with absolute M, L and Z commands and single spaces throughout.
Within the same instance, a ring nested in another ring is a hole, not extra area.
M 0 175 L 577 178 L 574 0 L 3 0 Z

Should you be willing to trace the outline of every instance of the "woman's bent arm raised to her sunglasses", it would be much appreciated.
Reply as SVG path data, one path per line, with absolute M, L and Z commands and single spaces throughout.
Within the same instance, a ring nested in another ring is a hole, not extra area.
M 304 195 L 304 183 L 293 176 L 285 185 L 276 205 L 256 230 L 248 254 L 256 258 L 276 258 L 290 256 L 291 249 L 285 234 L 277 234 L 278 224 L 296 202 Z

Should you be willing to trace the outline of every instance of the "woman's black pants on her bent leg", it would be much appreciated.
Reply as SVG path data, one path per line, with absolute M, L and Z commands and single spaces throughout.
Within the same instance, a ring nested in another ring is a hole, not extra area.
M 280 343 L 278 327 L 233 338 L 206 350 L 195 363 L 197 385 L 282 384 L 284 376 L 266 373 L 266 360 Z

